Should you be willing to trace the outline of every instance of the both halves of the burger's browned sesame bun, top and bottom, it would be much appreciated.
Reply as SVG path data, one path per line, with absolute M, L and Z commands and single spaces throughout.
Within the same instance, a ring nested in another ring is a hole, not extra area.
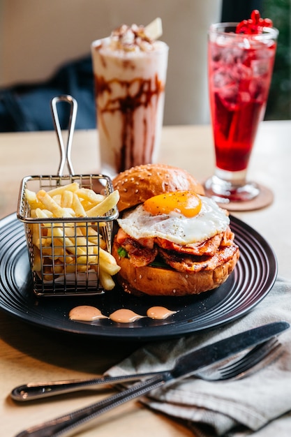
M 174 191 L 194 191 L 204 195 L 204 188 L 186 170 L 163 164 L 139 165 L 121 172 L 113 179 L 115 190 L 119 191 L 119 212 L 122 213 L 135 207 L 147 199 Z M 227 233 L 227 231 L 225 231 Z M 212 290 L 226 281 L 239 259 L 239 248 L 233 242 L 234 235 L 228 232 L 227 244 L 221 244 L 213 256 L 193 256 L 193 269 L 182 269 L 177 265 L 154 267 L 133 264 L 133 257 L 121 256 L 123 246 L 117 236 L 112 244 L 112 255 L 121 267 L 117 274 L 117 281 L 126 292 L 133 295 L 155 296 L 185 296 L 197 295 L 201 292 Z M 128 236 L 129 237 L 129 236 Z M 127 238 L 127 237 L 126 237 Z M 131 243 L 134 247 L 138 242 Z M 155 242 L 158 245 L 157 242 Z M 203 244 L 202 244 L 203 246 Z M 161 248 L 158 249 L 160 255 Z M 174 257 L 174 250 L 167 251 L 168 256 Z M 165 255 L 163 256 L 165 260 Z M 178 262 L 182 262 L 179 258 Z

